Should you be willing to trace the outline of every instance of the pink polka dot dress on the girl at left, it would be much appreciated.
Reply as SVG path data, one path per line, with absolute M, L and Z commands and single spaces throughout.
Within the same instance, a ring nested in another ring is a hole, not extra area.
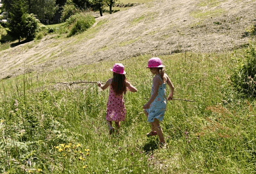
M 124 121 L 125 115 L 126 109 L 123 94 L 116 95 L 112 86 L 110 85 L 106 120 L 114 122 Z

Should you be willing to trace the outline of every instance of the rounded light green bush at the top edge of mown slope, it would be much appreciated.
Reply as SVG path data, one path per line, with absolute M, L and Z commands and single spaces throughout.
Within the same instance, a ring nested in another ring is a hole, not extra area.
M 70 33 L 68 36 L 76 35 L 77 33 L 82 33 L 86 29 L 90 28 L 95 23 L 95 19 L 92 15 L 79 13 L 68 19 L 67 24 L 72 25 Z

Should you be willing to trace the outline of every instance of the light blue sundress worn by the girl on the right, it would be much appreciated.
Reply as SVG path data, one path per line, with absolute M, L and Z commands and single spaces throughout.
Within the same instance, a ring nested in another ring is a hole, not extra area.
M 161 76 L 157 75 L 163 82 Z M 151 95 L 153 93 L 153 85 L 151 88 Z M 149 109 L 146 109 L 148 113 L 148 122 L 154 122 L 154 119 L 157 118 L 160 122 L 163 121 L 164 112 L 166 110 L 166 83 L 163 83 L 158 86 L 158 93 L 156 99 L 150 104 Z

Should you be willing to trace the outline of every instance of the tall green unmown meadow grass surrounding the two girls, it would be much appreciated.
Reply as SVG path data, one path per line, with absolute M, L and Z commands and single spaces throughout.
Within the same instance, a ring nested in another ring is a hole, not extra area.
M 230 86 L 234 54 L 159 56 L 174 97 L 194 101 L 168 102 L 161 123 L 165 149 L 156 137 L 145 136 L 150 56 L 122 61 L 138 93 L 125 95 L 127 117 L 111 136 L 105 121 L 108 90 L 51 82 L 104 82 L 116 62 L 1 81 L 1 173 L 254 173 L 255 100 L 237 97 Z

